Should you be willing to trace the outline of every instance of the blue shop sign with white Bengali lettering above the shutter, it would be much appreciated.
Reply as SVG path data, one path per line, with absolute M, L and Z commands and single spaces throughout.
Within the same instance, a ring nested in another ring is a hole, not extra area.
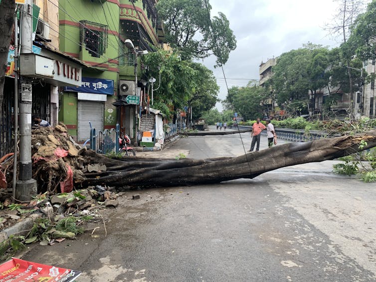
M 81 86 L 65 87 L 64 91 L 114 95 L 114 81 L 111 79 L 82 77 Z

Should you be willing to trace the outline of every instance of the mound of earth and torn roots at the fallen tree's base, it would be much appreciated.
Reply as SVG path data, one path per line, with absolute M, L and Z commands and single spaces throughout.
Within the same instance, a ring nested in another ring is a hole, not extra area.
M 84 157 L 81 148 L 68 134 L 66 126 L 38 127 L 31 131 L 32 178 L 38 193 L 56 194 L 72 191 L 85 180 Z M 18 168 L 17 168 L 18 169 Z M 13 178 L 13 158 L 1 163 L 0 188 L 10 189 Z M 18 173 L 18 171 L 17 171 Z

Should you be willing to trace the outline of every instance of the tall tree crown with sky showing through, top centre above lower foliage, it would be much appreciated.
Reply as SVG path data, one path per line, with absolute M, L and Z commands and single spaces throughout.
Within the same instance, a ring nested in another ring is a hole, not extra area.
M 181 51 L 183 60 L 214 55 L 219 66 L 236 48 L 226 16 L 219 12 L 210 19 L 208 0 L 159 0 L 157 10 L 164 19 L 166 42 Z

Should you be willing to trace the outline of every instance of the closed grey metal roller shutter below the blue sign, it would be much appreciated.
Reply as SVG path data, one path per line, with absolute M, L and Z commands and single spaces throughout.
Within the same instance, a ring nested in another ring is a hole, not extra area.
M 104 103 L 95 101 L 78 101 L 78 141 L 90 139 L 90 125 L 95 130 L 103 131 Z

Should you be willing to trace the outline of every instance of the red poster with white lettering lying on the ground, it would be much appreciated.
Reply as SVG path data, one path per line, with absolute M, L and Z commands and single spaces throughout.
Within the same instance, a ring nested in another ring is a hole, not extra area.
M 0 282 L 72 282 L 80 275 L 80 271 L 37 264 L 16 258 L 0 265 Z

